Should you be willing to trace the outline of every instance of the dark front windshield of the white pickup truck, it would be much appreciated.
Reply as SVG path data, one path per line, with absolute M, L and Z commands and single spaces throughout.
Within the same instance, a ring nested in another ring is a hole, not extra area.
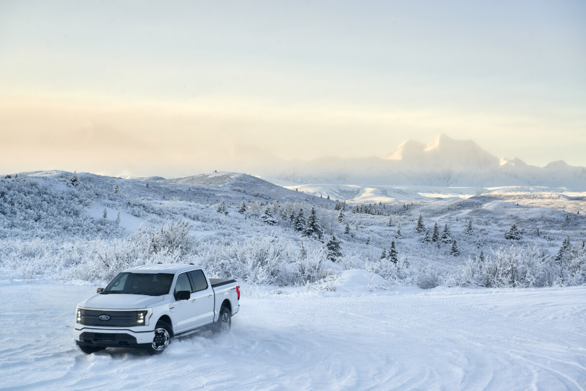
M 102 293 L 161 296 L 169 293 L 172 282 L 173 275 L 169 273 L 118 273 Z

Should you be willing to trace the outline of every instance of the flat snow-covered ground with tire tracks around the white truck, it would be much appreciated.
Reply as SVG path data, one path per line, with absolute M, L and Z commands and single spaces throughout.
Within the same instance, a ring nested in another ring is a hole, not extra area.
M 73 314 L 95 286 L 2 283 L 0 390 L 556 391 L 586 385 L 586 287 L 346 288 L 245 287 L 227 336 L 192 334 L 158 356 L 132 349 L 87 356 L 73 345 Z

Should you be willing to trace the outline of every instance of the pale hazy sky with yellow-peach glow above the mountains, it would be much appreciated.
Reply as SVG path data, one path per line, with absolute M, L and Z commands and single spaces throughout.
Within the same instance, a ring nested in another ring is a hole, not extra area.
M 0 173 L 242 171 L 440 133 L 586 166 L 586 2 L 0 0 Z

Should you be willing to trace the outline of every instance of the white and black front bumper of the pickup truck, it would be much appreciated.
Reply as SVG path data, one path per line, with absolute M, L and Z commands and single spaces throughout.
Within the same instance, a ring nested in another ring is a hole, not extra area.
M 148 345 L 152 343 L 154 337 L 154 331 L 135 332 L 132 330 L 111 330 L 90 327 L 76 328 L 74 334 L 77 345 L 101 348 L 124 348 Z

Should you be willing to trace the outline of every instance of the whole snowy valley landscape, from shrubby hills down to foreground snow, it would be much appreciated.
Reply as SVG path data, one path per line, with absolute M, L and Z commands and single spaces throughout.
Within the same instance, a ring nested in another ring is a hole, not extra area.
M 3 176 L 0 312 L 17 327 L 0 339 L 0 389 L 127 389 L 148 374 L 178 390 L 583 390 L 584 194 L 389 186 L 383 202 L 358 185 L 287 187 Z M 156 262 L 237 279 L 232 333 L 81 356 L 75 304 Z

